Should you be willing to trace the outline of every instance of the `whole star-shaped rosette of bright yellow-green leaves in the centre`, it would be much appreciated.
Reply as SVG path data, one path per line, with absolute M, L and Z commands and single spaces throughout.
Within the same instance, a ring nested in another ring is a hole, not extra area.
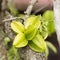
M 13 41 L 13 46 L 22 48 L 28 45 L 36 52 L 45 52 L 46 42 L 39 33 L 40 26 L 40 16 L 35 15 L 24 21 L 24 25 L 21 22 L 12 21 L 11 28 L 17 34 Z

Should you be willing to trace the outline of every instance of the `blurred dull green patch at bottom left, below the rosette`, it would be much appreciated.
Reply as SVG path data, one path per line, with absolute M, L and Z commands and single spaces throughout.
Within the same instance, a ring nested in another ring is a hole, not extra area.
M 14 47 L 11 47 L 8 51 L 7 51 L 7 57 L 8 60 L 20 60 L 20 57 L 18 55 L 17 49 Z

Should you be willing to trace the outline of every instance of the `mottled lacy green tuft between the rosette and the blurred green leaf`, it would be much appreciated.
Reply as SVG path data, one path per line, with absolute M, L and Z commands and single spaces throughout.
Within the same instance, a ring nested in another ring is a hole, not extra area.
M 42 21 L 41 21 L 41 26 L 40 26 L 40 34 L 43 36 L 44 39 L 48 37 L 48 29 L 47 29 L 47 23 L 43 20 L 43 17 L 40 16 Z

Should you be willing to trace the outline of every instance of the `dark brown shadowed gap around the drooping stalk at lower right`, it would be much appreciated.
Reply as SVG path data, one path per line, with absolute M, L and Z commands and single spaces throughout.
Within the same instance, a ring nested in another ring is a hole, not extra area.
M 59 45 L 57 42 L 57 35 L 56 33 L 52 34 L 51 36 L 49 36 L 47 38 L 48 41 L 50 41 L 52 44 L 55 45 L 55 47 L 57 48 L 57 54 L 54 54 L 50 49 L 49 49 L 49 56 L 48 56 L 48 60 L 60 60 L 60 49 L 59 49 Z

